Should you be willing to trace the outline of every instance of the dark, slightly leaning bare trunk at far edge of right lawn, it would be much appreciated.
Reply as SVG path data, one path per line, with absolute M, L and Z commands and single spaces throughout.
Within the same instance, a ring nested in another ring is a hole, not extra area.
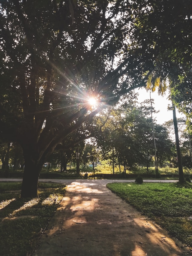
M 180 151 L 180 145 L 179 145 L 179 133 L 178 133 L 178 126 L 177 126 L 176 109 L 173 103 L 172 103 L 172 106 L 173 106 L 173 123 L 174 123 L 174 129 L 175 129 L 175 140 L 176 140 L 178 167 L 179 167 L 179 182 L 183 183 L 185 179 L 184 179 L 181 151 Z

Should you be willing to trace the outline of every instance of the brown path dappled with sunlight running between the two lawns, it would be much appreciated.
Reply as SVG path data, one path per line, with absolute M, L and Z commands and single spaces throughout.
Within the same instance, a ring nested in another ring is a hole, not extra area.
M 106 188 L 107 182 L 67 186 L 34 256 L 176 256 L 191 251 Z

